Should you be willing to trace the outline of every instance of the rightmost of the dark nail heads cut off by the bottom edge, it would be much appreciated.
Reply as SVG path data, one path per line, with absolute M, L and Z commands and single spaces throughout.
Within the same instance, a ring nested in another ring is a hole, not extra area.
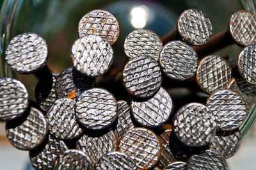
M 228 169 L 225 158 L 220 153 L 206 150 L 199 155 L 193 155 L 188 160 L 187 169 Z

